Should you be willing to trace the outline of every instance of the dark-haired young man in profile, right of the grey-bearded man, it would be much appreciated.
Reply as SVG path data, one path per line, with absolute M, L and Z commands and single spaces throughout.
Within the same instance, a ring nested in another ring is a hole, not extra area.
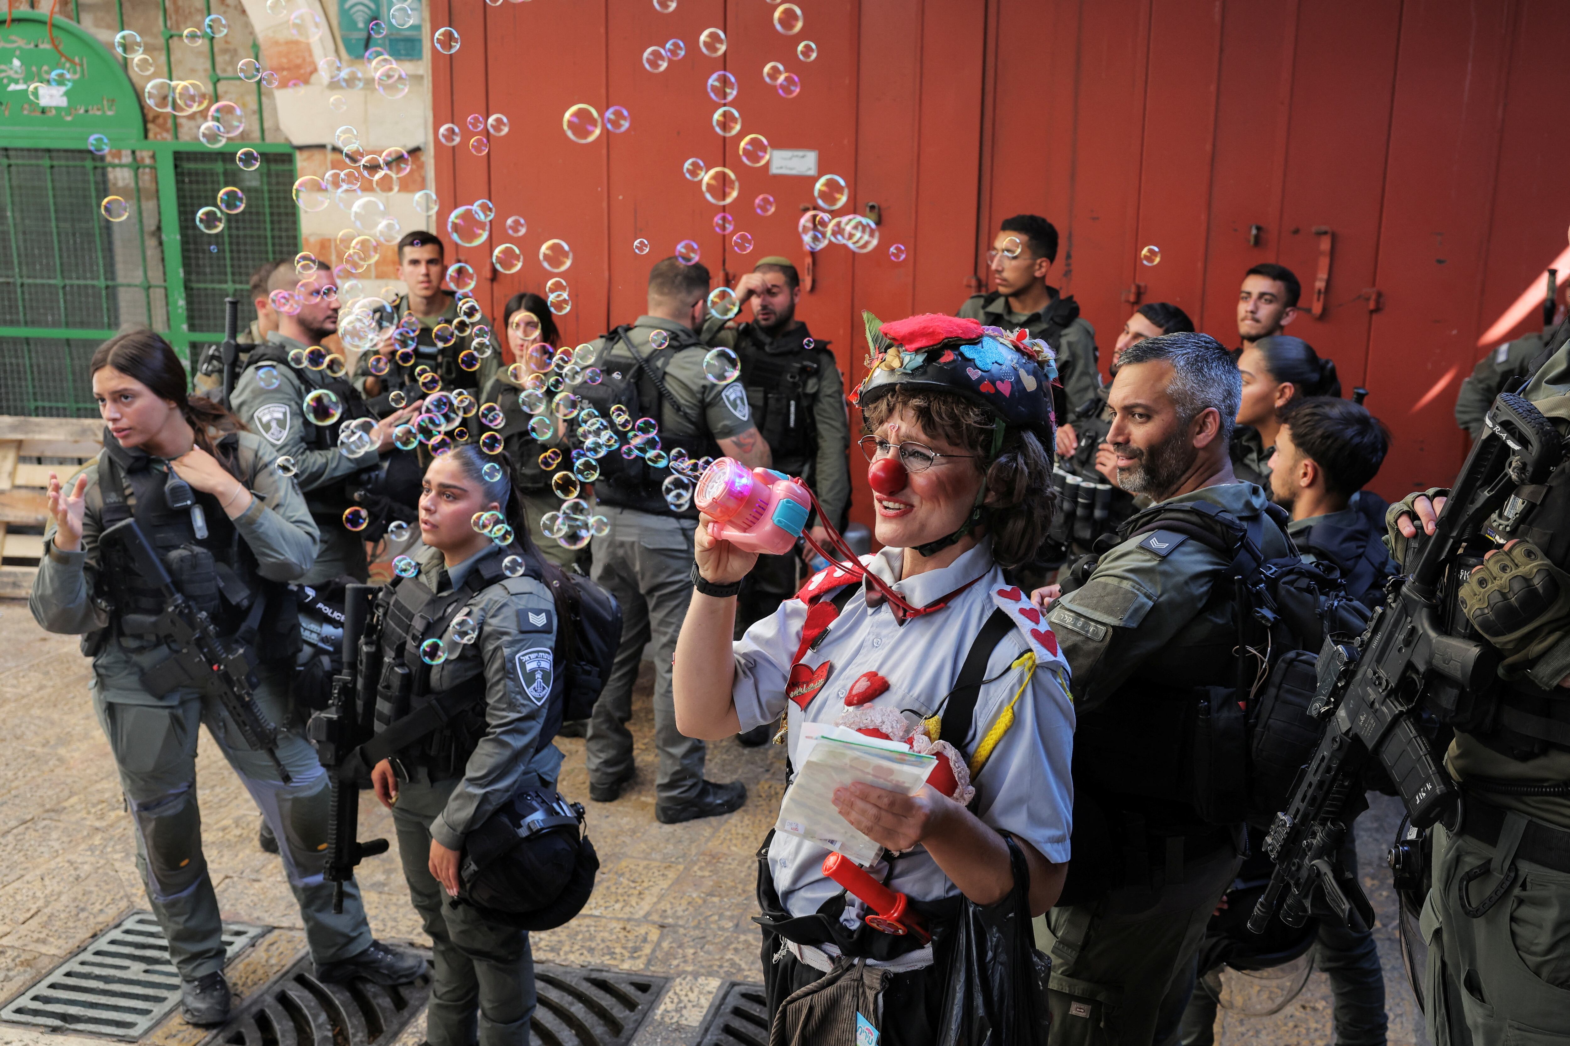
M 1369 608 L 1385 602 L 1396 565 L 1352 496 L 1374 480 L 1386 450 L 1389 430 L 1364 406 L 1313 395 L 1283 409 L 1270 459 L 1270 489 L 1292 513 L 1286 532 L 1303 558 L 1334 563 L 1347 594 Z

